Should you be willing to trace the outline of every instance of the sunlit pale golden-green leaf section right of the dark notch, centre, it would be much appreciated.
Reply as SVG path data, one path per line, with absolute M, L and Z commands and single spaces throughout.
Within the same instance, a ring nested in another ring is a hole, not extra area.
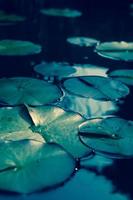
M 76 158 L 90 152 L 78 137 L 78 126 L 84 121 L 80 115 L 55 106 L 28 107 L 28 109 L 35 124 L 33 130 L 42 134 L 46 141 L 60 144 Z

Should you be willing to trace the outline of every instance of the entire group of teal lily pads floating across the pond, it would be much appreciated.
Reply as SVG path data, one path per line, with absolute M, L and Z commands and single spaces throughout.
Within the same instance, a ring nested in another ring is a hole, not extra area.
M 41 13 L 59 17 L 82 14 L 53 8 Z M 0 15 L 8 19 L 5 13 Z M 132 60 L 132 43 L 100 43 L 87 37 L 70 37 L 67 42 L 94 47 L 103 57 Z M 41 50 L 29 41 L 0 41 L 1 56 L 25 56 Z M 133 156 L 133 121 L 113 115 L 119 100 L 130 93 L 131 69 L 108 72 L 91 64 L 43 62 L 34 66 L 34 71 L 41 76 L 0 79 L 1 190 L 32 193 L 61 184 L 75 173 L 77 161 L 94 151 L 115 158 Z

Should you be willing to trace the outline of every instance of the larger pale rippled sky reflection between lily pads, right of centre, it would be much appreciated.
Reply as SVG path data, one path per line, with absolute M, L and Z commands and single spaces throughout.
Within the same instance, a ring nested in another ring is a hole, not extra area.
M 79 97 L 68 92 L 65 92 L 62 101 L 58 101 L 56 105 L 65 110 L 77 112 L 86 119 L 109 115 L 118 111 L 118 106 L 114 102 Z

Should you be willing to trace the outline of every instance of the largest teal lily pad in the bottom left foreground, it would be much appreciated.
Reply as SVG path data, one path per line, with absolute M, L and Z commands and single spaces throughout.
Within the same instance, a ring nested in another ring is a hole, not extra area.
M 0 144 L 0 189 L 32 193 L 64 182 L 75 161 L 60 146 L 34 140 Z

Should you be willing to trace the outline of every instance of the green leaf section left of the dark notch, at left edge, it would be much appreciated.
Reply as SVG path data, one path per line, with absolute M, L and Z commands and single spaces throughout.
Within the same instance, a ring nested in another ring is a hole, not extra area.
M 0 135 L 6 132 L 22 131 L 31 125 L 30 116 L 28 116 L 23 108 L 0 108 Z

